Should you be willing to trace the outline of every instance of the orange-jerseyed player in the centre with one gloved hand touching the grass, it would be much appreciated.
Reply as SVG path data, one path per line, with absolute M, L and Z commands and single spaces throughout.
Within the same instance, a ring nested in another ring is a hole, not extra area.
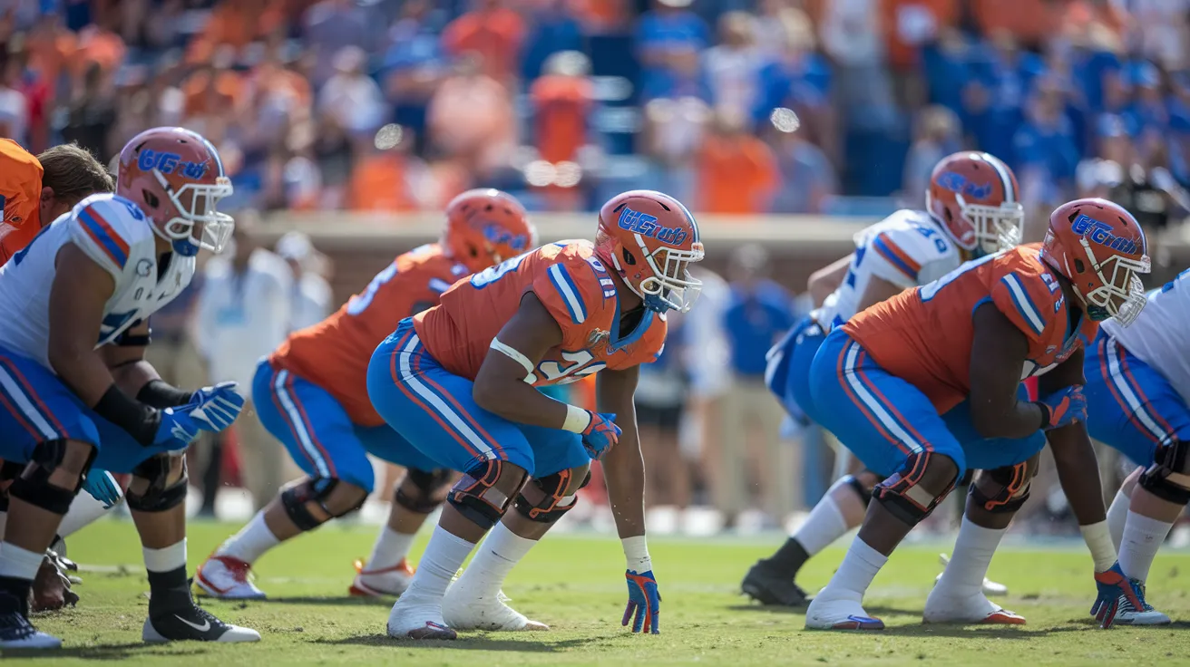
M 500 586 L 575 506 L 591 459 L 603 460 L 627 556 L 622 623 L 657 633 L 660 596 L 645 545 L 632 401 L 639 365 L 665 342 L 664 313 L 688 310 L 697 295 L 701 284 L 687 268 L 702 257 L 699 227 L 682 203 L 624 193 L 603 204 L 594 244 L 550 244 L 461 281 L 376 348 L 368 369 L 376 410 L 439 466 L 464 473 L 393 606 L 389 636 L 544 628 L 505 605 Z M 597 413 L 534 389 L 595 372 Z

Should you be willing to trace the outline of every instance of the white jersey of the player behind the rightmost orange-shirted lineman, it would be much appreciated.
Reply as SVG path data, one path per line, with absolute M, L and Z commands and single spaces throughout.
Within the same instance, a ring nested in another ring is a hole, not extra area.
M 875 276 L 903 289 L 931 283 L 960 264 L 959 250 L 923 210 L 901 209 L 856 234 L 856 254 L 839 289 L 812 315 L 825 331 L 856 314 Z

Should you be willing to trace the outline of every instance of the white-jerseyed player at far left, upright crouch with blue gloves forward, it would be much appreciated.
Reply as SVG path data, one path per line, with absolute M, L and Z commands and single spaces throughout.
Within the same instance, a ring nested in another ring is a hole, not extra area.
M 214 146 L 182 128 L 138 134 L 119 163 L 115 195 L 82 200 L 0 269 L 0 455 L 27 463 L 0 543 L 2 648 L 61 646 L 29 623 L 26 599 L 93 464 L 133 473 L 151 592 L 144 640 L 259 640 L 199 609 L 186 577 L 181 451 L 200 429 L 226 428 L 243 398 L 231 383 L 169 386 L 143 359 L 149 315 L 189 283 L 200 248 L 227 240 L 232 220 L 217 204 L 231 182 Z

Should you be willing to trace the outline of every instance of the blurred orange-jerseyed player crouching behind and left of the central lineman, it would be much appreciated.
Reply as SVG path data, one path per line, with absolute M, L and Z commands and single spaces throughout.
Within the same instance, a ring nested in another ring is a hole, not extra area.
M 446 498 L 453 474 L 441 470 L 376 414 L 368 399 L 368 361 L 393 323 L 438 304 L 458 278 L 537 245 L 525 208 L 499 190 L 470 190 L 446 207 L 439 244 L 397 257 L 336 314 L 296 332 L 261 361 L 252 386 L 261 421 L 308 476 L 282 491 L 227 539 L 195 577 L 207 593 L 262 599 L 248 578 L 261 555 L 359 509 L 375 485 L 368 454 L 406 467 L 388 526 L 367 567 L 356 561 L 352 594 L 399 596 L 413 571 L 413 536 Z

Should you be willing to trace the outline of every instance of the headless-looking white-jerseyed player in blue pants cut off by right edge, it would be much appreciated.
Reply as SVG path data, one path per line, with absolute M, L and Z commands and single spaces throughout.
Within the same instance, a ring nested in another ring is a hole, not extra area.
M 1120 570 L 1141 591 L 1157 549 L 1190 501 L 1190 271 L 1160 291 L 1132 325 L 1108 320 L 1088 346 L 1086 428 L 1138 468 L 1108 509 Z M 1116 623 L 1161 625 L 1170 617 L 1121 600 Z

